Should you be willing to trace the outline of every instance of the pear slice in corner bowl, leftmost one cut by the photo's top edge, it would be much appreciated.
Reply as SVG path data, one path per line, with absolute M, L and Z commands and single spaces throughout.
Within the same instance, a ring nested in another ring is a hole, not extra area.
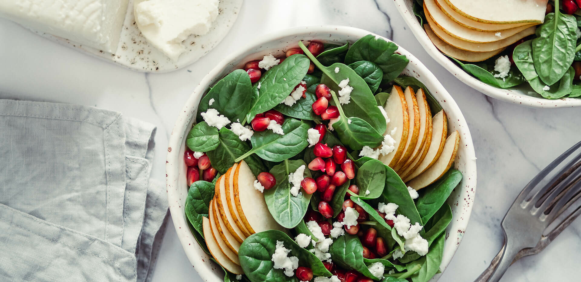
M 434 23 L 442 29 L 444 32 L 449 34 L 451 37 L 456 37 L 460 40 L 474 42 L 474 43 L 488 43 L 498 41 L 525 30 L 528 27 L 535 26 L 535 24 L 529 24 L 526 26 L 520 26 L 511 28 L 510 30 L 504 31 L 475 31 L 470 28 L 461 26 L 456 23 L 456 21 L 451 20 L 442 10 L 440 10 L 435 0 L 424 0 L 424 13 L 429 15 Z

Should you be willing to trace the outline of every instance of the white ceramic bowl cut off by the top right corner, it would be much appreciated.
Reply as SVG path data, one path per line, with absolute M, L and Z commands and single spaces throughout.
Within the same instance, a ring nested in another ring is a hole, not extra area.
M 562 99 L 544 99 L 539 96 L 528 95 L 528 87 L 515 87 L 511 89 L 502 89 L 490 86 L 480 81 L 478 78 L 472 77 L 466 73 L 462 68 L 458 67 L 454 62 L 452 62 L 448 57 L 444 56 L 440 50 L 433 45 L 432 41 L 426 35 L 424 27 L 419 24 L 418 18 L 414 15 L 413 3 L 414 0 L 394 0 L 397 10 L 400 12 L 403 19 L 406 21 L 407 25 L 410 27 L 411 32 L 414 33 L 415 38 L 418 39 L 419 43 L 424 46 L 426 52 L 433 57 L 436 62 L 441 64 L 446 70 L 450 71 L 451 74 L 456 76 L 460 81 L 464 82 L 466 85 L 484 93 L 487 96 L 496 98 L 498 100 L 503 100 L 506 102 L 512 102 L 522 106 L 535 107 L 535 108 L 556 108 L 556 107 L 580 107 L 581 99 L 578 98 L 562 98 Z

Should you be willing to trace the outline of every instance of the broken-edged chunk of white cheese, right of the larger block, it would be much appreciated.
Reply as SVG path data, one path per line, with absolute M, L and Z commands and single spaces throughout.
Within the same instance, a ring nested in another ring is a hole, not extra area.
M 218 16 L 218 0 L 148 0 L 134 5 L 141 34 L 174 62 L 189 35 L 204 35 Z

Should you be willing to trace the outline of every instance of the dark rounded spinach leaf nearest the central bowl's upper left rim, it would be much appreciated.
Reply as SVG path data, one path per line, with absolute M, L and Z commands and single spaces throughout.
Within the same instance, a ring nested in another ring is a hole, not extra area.
M 293 86 L 294 87 L 294 86 Z M 244 120 L 250 110 L 250 100 L 252 100 L 252 82 L 248 73 L 244 70 L 235 70 L 224 78 L 220 79 L 202 98 L 198 106 L 196 121 L 203 121 L 202 113 L 209 108 L 218 110 L 230 121 Z M 290 92 L 289 92 L 290 93 Z M 210 106 L 210 99 L 214 103 Z

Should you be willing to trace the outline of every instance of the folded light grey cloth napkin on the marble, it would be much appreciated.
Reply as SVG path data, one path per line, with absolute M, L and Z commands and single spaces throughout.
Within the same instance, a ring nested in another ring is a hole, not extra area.
M 0 100 L 0 281 L 149 281 L 167 221 L 155 126 Z

